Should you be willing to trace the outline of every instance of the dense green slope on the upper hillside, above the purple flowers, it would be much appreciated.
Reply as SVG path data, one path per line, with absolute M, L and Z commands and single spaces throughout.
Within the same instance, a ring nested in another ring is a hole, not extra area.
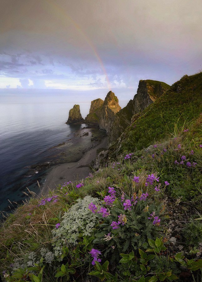
M 202 73 L 193 76 L 183 76 L 174 83 L 170 90 L 138 114 L 134 123 L 121 136 L 119 144 L 111 146 L 111 151 L 117 147 L 117 153 L 134 151 L 147 147 L 154 140 L 164 138 L 178 126 L 188 124 L 197 118 L 201 111 Z

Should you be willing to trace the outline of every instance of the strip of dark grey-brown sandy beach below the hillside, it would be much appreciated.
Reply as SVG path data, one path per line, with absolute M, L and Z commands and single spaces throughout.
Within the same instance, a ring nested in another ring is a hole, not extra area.
M 95 148 L 87 151 L 78 162 L 55 165 L 46 177 L 41 194 L 45 195 L 49 190 L 53 190 L 67 181 L 81 180 L 88 176 L 89 165 L 96 158 L 97 149 L 106 148 L 106 146 L 107 137 L 103 137 L 101 142 Z

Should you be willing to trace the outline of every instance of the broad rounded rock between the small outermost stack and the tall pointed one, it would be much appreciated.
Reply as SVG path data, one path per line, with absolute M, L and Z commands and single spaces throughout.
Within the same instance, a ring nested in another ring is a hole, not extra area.
M 91 102 L 91 108 L 89 114 L 85 118 L 86 123 L 99 124 L 99 115 L 104 101 L 102 99 L 96 99 Z

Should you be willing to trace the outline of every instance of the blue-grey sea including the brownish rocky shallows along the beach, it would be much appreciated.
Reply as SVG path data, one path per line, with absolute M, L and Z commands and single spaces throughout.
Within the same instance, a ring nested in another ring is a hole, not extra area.
M 58 103 L 57 107 L 55 103 L 0 105 L 1 211 L 9 212 L 8 205 L 12 209 L 17 206 L 13 201 L 25 200 L 26 187 L 39 193 L 37 180 L 43 185 L 45 173 L 53 165 L 76 162 L 99 143 L 91 141 L 101 139 L 103 133 L 98 128 L 65 124 L 69 108 L 68 103 Z

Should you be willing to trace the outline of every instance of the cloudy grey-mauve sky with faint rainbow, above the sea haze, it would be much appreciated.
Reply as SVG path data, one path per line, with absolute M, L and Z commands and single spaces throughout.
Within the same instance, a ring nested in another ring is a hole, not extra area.
M 0 88 L 137 89 L 202 66 L 201 0 L 1 0 Z

